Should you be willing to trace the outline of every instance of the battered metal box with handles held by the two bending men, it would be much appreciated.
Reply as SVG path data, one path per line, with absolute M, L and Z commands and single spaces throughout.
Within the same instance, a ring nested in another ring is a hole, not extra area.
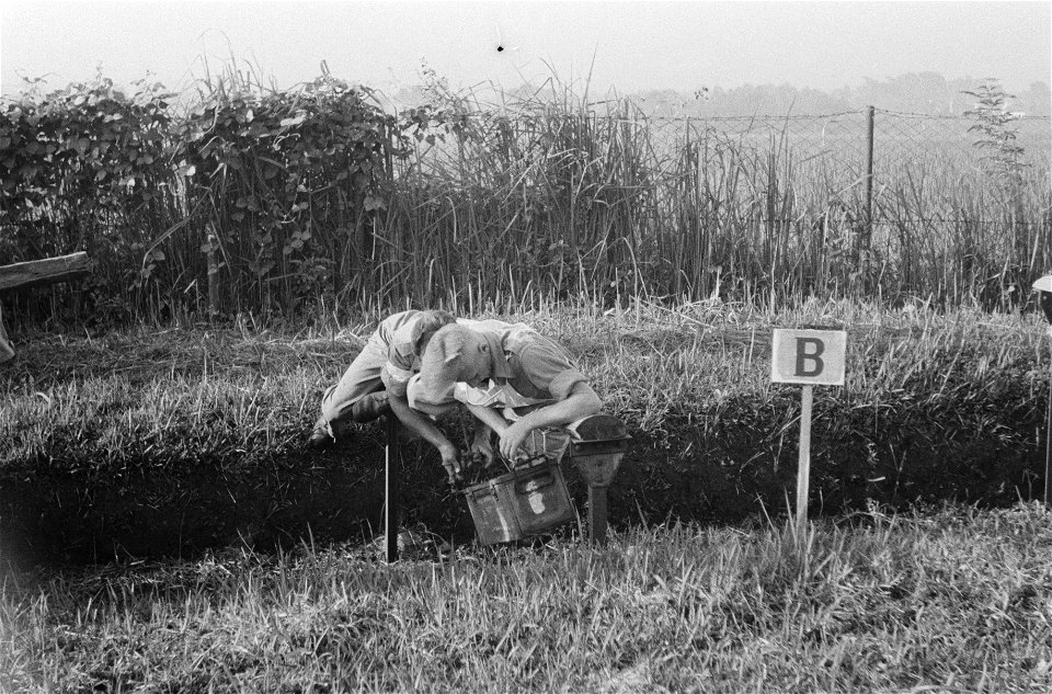
M 558 463 L 542 459 L 464 490 L 483 545 L 537 535 L 574 517 Z

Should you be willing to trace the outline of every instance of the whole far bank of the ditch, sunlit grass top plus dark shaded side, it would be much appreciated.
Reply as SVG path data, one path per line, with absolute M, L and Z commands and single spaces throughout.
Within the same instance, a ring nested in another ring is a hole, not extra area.
M 845 387 L 815 394 L 815 513 L 869 500 L 1006 505 L 1043 485 L 1048 356 L 1033 316 L 846 303 L 782 314 L 718 303 L 460 308 L 559 339 L 626 421 L 634 444 L 610 493 L 615 524 L 737 522 L 785 509 L 799 390 L 769 382 L 773 326 L 850 335 Z M 378 520 L 380 429 L 362 428 L 327 454 L 302 443 L 321 391 L 375 319 L 24 338 L 0 372 L 7 535 L 92 560 L 367 533 Z M 445 425 L 466 442 L 461 424 Z M 408 456 L 407 521 L 470 533 L 433 452 Z

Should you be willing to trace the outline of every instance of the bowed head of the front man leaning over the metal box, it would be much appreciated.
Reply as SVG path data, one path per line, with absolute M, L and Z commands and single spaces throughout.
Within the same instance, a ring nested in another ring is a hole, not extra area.
M 421 399 L 441 402 L 456 383 L 484 385 L 493 373 L 492 356 L 481 333 L 456 323 L 439 328 L 421 357 Z

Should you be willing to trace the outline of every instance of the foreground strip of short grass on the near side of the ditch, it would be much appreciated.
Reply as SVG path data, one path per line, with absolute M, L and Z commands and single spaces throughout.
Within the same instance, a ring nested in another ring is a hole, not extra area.
M 18 692 L 1024 692 L 1052 687 L 1037 504 L 637 527 L 592 550 L 346 546 L 9 579 Z

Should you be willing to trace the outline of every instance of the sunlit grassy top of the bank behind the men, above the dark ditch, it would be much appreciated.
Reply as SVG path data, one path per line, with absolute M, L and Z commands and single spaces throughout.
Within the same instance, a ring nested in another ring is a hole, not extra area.
M 728 423 L 721 413 L 742 400 L 774 426 L 789 423 L 791 411 L 776 411 L 792 402 L 796 389 L 770 383 L 773 327 L 848 330 L 846 386 L 820 389 L 816 399 L 841 413 L 869 407 L 874 422 L 892 406 L 919 413 L 957 398 L 1031 417 L 1045 397 L 1044 326 L 1033 315 L 846 302 L 778 314 L 719 302 L 456 310 L 526 321 L 556 338 L 592 377 L 607 411 L 633 433 L 659 439 L 685 426 L 718 433 Z M 187 452 L 251 464 L 265 452 L 290 451 L 316 418 L 321 391 L 357 354 L 377 318 L 298 331 L 239 320 L 20 335 L 20 357 L 0 371 L 0 475 L 89 459 L 99 470 L 132 457 L 163 464 Z M 1019 399 L 1002 403 L 1006 396 Z M 963 429 L 970 414 L 951 413 L 946 425 Z

